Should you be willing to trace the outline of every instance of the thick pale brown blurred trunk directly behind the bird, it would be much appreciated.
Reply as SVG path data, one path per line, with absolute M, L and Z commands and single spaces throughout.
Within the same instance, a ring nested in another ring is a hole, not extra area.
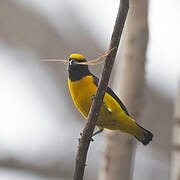
M 131 0 L 121 48 L 121 63 L 116 64 L 113 89 L 131 116 L 138 119 L 144 87 L 144 67 L 148 42 L 147 0 Z M 99 180 L 129 180 L 133 152 L 132 137 L 108 132 L 105 158 Z

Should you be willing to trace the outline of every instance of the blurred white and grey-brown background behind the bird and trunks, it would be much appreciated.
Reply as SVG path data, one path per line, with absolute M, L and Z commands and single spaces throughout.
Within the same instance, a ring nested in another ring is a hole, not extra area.
M 72 178 L 85 120 L 72 103 L 67 66 L 40 59 L 102 55 L 118 6 L 119 0 L 0 1 L 0 179 Z M 146 147 L 137 143 L 133 179 L 168 180 L 180 75 L 180 1 L 152 0 L 148 10 L 140 119 L 154 140 Z M 91 68 L 96 75 L 101 69 Z M 90 146 L 85 180 L 98 179 L 104 150 L 102 133 Z

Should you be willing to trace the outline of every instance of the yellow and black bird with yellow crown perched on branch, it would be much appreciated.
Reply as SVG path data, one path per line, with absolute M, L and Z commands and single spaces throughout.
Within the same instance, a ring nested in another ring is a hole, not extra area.
M 82 54 L 71 54 L 68 58 L 68 86 L 73 102 L 80 113 L 87 119 L 99 79 L 89 71 L 88 62 Z M 149 144 L 153 134 L 140 126 L 129 114 L 120 98 L 107 87 L 100 114 L 96 122 L 97 131 L 104 129 L 119 130 L 134 136 L 143 145 Z

